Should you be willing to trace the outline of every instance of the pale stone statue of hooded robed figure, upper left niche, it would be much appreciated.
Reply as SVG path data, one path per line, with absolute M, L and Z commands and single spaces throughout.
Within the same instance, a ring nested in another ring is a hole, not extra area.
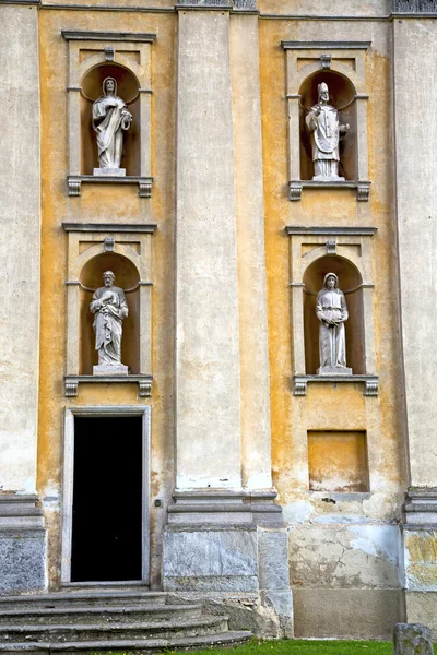
M 93 128 L 97 132 L 99 168 L 94 175 L 125 176 L 120 168 L 123 132 L 129 130 L 132 115 L 125 100 L 117 95 L 117 82 L 114 78 L 105 78 L 103 95 L 93 104 Z

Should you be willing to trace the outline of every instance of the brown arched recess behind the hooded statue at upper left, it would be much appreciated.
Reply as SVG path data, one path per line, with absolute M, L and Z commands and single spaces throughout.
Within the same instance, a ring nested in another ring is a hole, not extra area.
M 117 81 L 117 95 L 125 100 L 132 114 L 132 123 L 123 132 L 123 155 L 121 167 L 127 176 L 140 175 L 140 83 L 135 75 L 118 63 L 102 63 L 88 70 L 81 82 L 80 121 L 81 121 L 81 174 L 93 175 L 98 168 L 96 133 L 93 129 L 93 103 L 103 95 L 103 82 L 106 78 Z

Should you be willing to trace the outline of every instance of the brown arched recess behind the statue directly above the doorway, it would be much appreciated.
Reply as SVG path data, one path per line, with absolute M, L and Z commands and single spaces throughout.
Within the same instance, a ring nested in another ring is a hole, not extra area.
M 113 271 L 115 286 L 126 293 L 129 315 L 122 322 L 121 361 L 129 367 L 130 373 L 140 372 L 140 275 L 135 265 L 126 257 L 108 252 L 87 261 L 80 275 L 79 295 L 79 373 L 90 376 L 97 364 L 94 315 L 90 311 L 93 290 L 103 286 L 103 273 Z M 130 289 L 134 289 L 130 291 Z

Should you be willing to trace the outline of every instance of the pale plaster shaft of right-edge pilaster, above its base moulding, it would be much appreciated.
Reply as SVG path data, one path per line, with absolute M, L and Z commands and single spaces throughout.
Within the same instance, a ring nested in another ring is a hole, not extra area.
M 437 486 L 437 407 L 429 403 L 436 389 L 437 124 L 429 119 L 437 102 L 436 37 L 436 20 L 393 22 L 397 212 L 411 485 L 429 487 Z

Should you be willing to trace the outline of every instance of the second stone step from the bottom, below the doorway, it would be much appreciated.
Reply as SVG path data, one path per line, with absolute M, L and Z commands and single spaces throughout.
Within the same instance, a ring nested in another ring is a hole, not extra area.
M 66 623 L 40 626 L 1 626 L 0 643 L 26 642 L 99 642 L 115 640 L 172 639 L 175 635 L 214 635 L 227 630 L 227 617 L 203 616 L 196 619 L 178 618 L 168 621 L 135 623 Z

